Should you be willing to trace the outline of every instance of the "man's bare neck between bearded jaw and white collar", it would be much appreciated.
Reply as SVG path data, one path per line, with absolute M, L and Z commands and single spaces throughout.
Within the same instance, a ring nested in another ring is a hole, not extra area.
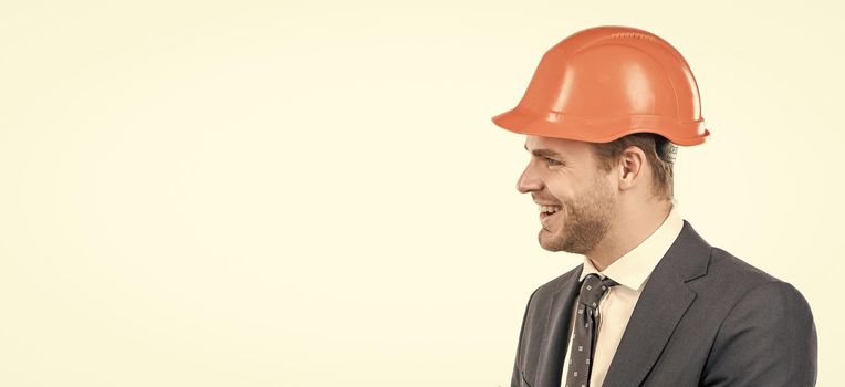
M 619 258 L 634 250 L 651 236 L 671 211 L 669 200 L 653 201 L 648 206 L 620 206 L 616 221 L 598 245 L 584 255 L 598 271 L 604 271 Z

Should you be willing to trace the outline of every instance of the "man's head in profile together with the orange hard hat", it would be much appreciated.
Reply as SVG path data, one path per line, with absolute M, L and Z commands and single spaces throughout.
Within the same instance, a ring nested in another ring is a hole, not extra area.
M 519 190 L 560 208 L 541 215 L 543 248 L 602 265 L 671 210 L 675 145 L 700 145 L 710 135 L 680 52 L 620 25 L 582 30 L 549 49 L 517 107 L 493 123 L 528 135 L 533 155 Z

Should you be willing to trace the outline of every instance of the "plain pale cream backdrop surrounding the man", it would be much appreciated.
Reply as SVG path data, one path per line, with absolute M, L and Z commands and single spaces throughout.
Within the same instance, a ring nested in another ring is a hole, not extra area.
M 515 106 L 590 27 L 689 62 L 681 216 L 792 283 L 845 383 L 838 1 L 4 1 L 0 385 L 505 386 L 536 242 Z

